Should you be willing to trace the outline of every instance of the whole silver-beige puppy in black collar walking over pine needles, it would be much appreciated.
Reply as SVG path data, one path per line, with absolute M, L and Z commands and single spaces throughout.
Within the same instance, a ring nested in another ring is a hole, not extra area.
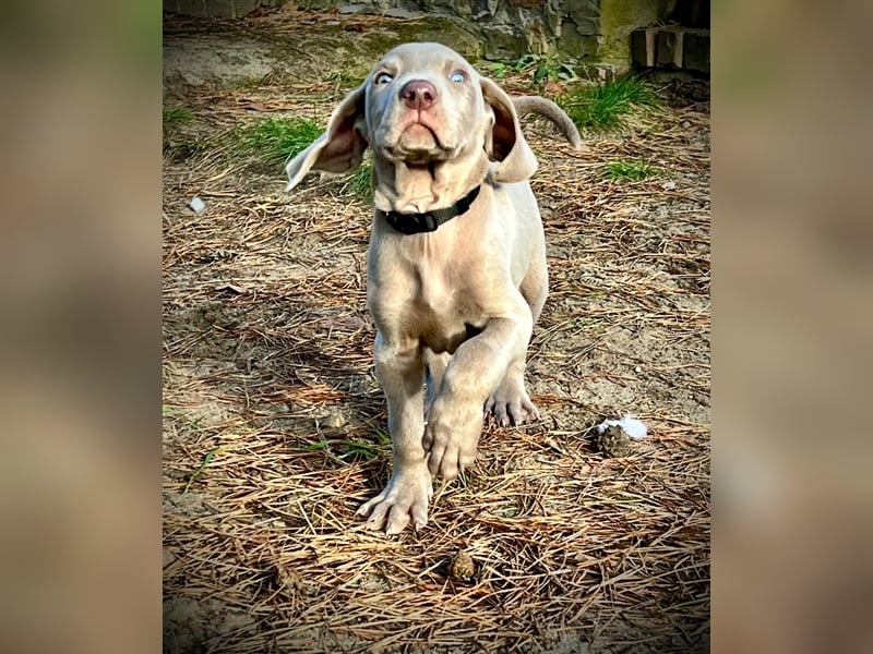
M 373 529 L 427 524 L 433 477 L 452 480 L 476 459 L 483 409 L 501 424 L 538 416 L 525 354 L 548 274 L 519 112 L 542 113 L 581 143 L 553 102 L 513 101 L 450 48 L 406 44 L 288 164 L 290 190 L 373 152 L 367 298 L 393 449 L 387 487 L 358 510 Z

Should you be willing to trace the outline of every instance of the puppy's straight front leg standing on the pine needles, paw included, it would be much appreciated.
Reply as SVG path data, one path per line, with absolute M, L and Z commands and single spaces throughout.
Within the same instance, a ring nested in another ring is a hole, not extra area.
M 392 346 L 376 335 L 375 373 L 388 402 L 393 471 L 385 489 L 361 506 L 358 514 L 369 517 L 372 529 L 396 534 L 410 519 L 416 529 L 428 523 L 428 500 L 433 495 L 421 445 L 424 365 L 419 344 Z

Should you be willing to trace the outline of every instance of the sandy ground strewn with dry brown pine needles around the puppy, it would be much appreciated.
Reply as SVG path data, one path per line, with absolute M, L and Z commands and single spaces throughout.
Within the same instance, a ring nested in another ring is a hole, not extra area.
M 581 153 L 525 121 L 551 276 L 527 372 L 541 420 L 488 424 L 421 532 L 354 519 L 390 472 L 371 208 L 342 177 L 287 194 L 280 165 L 235 158 L 218 136 L 263 117 L 324 123 L 371 50 L 417 29 L 433 27 L 294 11 L 165 21 L 165 108 L 191 119 L 164 162 L 164 651 L 708 651 L 699 87 L 661 85 L 662 110 L 586 133 Z M 501 84 L 533 90 L 523 75 Z M 611 178 L 617 161 L 656 173 Z M 595 425 L 625 414 L 648 437 L 598 451 Z

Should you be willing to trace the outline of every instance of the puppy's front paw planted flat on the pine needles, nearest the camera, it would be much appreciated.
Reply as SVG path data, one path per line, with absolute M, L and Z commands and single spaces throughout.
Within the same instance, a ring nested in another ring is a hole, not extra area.
M 400 533 L 410 520 L 419 530 L 428 523 L 432 495 L 433 483 L 424 462 L 407 463 L 395 468 L 385 489 L 362 505 L 356 516 L 367 518 L 369 529 L 384 529 L 386 534 Z

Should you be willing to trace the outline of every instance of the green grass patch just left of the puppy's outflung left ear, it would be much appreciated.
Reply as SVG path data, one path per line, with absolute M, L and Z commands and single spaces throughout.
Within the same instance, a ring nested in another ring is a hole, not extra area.
M 324 128 L 304 118 L 267 118 L 231 131 L 232 152 L 267 166 L 280 166 L 301 153 Z

